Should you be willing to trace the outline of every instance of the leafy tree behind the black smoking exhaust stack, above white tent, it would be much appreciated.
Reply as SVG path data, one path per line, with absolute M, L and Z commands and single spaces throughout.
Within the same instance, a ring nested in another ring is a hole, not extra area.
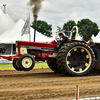
M 33 22 L 31 27 L 48 37 L 51 37 L 52 35 L 52 25 L 48 24 L 45 21 L 38 20 L 36 27 L 35 27 L 35 22 Z

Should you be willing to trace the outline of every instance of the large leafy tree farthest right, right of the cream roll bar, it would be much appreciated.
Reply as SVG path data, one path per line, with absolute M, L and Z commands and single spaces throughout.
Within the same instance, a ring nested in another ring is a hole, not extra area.
M 77 26 L 79 28 L 79 35 L 85 41 L 88 41 L 92 35 L 96 36 L 100 31 L 98 25 L 90 19 L 78 21 Z

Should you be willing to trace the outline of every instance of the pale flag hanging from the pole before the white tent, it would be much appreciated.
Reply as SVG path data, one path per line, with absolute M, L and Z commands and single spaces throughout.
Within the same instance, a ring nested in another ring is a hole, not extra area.
M 21 30 L 21 36 L 24 34 L 30 34 L 30 17 L 27 18 L 22 30 Z

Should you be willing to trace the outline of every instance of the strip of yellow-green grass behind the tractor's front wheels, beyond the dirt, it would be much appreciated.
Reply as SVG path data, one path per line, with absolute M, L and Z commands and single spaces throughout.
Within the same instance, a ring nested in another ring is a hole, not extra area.
M 46 62 L 36 62 L 34 68 L 49 68 Z M 0 64 L 0 70 L 13 70 L 12 64 Z

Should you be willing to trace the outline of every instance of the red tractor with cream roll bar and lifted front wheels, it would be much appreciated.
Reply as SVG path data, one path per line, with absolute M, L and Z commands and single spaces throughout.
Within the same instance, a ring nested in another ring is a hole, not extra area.
M 72 76 L 87 75 L 93 69 L 100 69 L 95 64 L 93 50 L 84 41 L 78 41 L 77 26 L 75 40 L 67 41 L 57 53 L 55 48 L 57 42 L 50 43 L 16 41 L 18 54 L 16 56 L 1 56 L 8 60 L 13 60 L 13 66 L 18 71 L 29 71 L 33 69 L 35 61 L 47 61 L 48 66 L 55 73 L 64 73 Z

